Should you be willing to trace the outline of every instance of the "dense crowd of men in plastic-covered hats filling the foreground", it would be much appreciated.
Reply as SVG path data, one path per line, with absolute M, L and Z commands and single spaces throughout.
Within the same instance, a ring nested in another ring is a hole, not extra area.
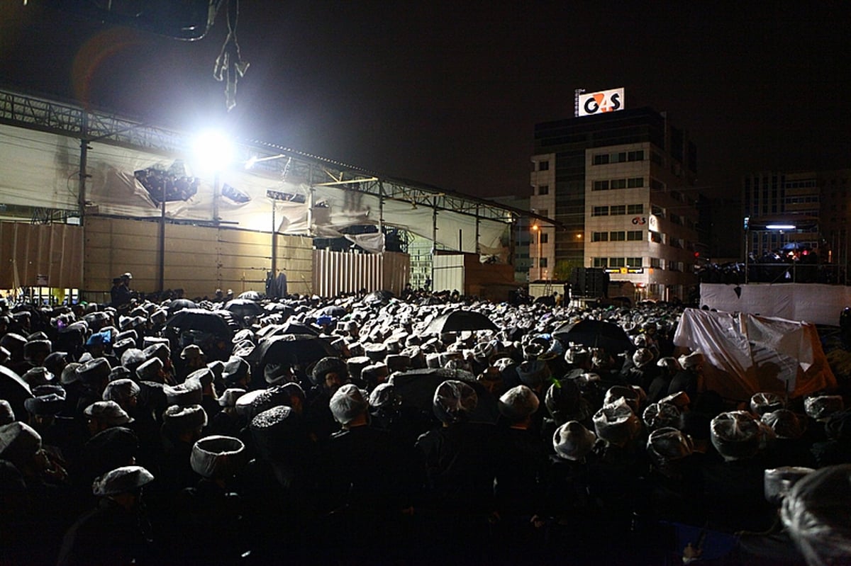
M 722 399 L 681 307 L 129 302 L 0 304 L 0 563 L 851 561 L 847 392 Z

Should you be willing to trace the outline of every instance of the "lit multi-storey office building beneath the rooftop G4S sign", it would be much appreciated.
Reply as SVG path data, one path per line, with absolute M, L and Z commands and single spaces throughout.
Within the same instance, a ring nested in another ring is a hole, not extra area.
M 700 254 L 697 147 L 683 129 L 650 108 L 544 122 L 532 162 L 529 207 L 557 225 L 536 230 L 530 279 L 602 268 L 640 298 L 688 297 Z

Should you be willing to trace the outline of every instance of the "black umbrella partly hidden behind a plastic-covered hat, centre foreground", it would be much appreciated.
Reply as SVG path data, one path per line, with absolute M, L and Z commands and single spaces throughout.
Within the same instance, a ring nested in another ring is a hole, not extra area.
M 497 399 L 481 383 L 477 382 L 469 371 L 440 368 L 403 371 L 393 374 L 393 388 L 403 405 L 425 410 L 431 414 L 435 390 L 441 383 L 449 379 L 465 382 L 476 390 L 478 404 L 476 410 L 473 410 L 470 414 L 472 422 L 496 422 L 497 417 L 500 416 Z

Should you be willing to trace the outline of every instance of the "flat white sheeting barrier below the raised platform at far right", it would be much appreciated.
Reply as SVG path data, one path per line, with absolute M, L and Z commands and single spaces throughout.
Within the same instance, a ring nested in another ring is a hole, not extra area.
M 851 287 L 817 283 L 701 283 L 700 304 L 728 313 L 762 314 L 835 326 L 839 324 L 842 308 L 851 305 Z

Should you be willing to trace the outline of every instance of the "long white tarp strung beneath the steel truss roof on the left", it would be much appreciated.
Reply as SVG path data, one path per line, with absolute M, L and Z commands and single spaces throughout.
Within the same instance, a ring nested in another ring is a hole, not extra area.
M 50 133 L 0 125 L 0 204 L 77 209 L 80 149 L 79 141 Z M 162 156 L 140 150 L 127 150 L 109 144 L 89 144 L 86 201 L 101 214 L 131 218 L 157 218 L 160 208 L 134 178 L 134 172 L 149 167 L 168 170 L 176 159 L 185 159 L 187 173 L 191 159 Z M 230 167 L 218 175 L 218 186 L 230 185 L 250 197 L 247 202 L 218 199 L 218 215 L 223 224 L 260 232 L 272 228 L 272 201 L 266 190 L 293 195 L 292 201 L 276 201 L 275 224 L 292 235 L 336 237 L 340 229 L 352 225 L 383 224 L 406 229 L 451 250 L 477 252 L 501 250 L 505 223 L 476 218 L 459 212 L 438 211 L 437 230 L 431 208 L 411 202 L 386 199 L 340 187 L 316 186 L 312 190 L 314 208 L 309 210 L 311 187 L 269 178 L 243 167 Z M 215 178 L 203 178 L 197 193 L 188 201 L 166 203 L 166 216 L 180 220 L 209 222 L 214 218 Z M 312 214 L 309 214 L 312 212 Z M 309 224 L 312 217 L 312 226 Z M 383 217 L 383 218 L 380 218 Z M 477 246 L 478 233 L 478 246 Z M 379 242 L 372 242 L 380 249 Z

